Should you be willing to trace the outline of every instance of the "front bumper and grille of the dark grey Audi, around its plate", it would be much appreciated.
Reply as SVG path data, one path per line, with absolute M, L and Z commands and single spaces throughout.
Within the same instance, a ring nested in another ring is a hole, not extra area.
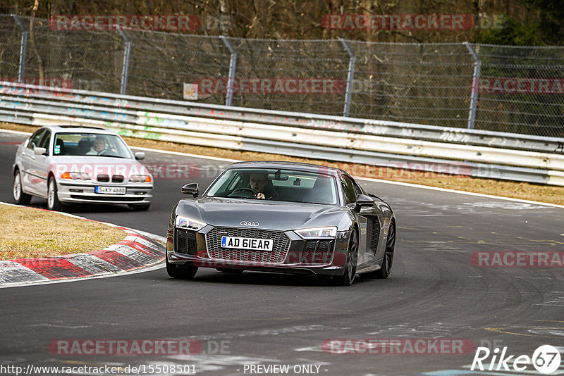
M 222 236 L 271 239 L 273 251 L 252 251 L 221 247 Z M 335 238 L 305 240 L 293 231 L 214 227 L 198 231 L 168 225 L 168 263 L 200 268 L 234 268 L 309 275 L 343 275 L 348 252 L 348 232 Z

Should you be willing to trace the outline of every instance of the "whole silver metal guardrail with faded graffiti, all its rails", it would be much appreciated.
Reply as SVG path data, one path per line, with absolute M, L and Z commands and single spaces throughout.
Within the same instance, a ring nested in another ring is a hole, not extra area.
M 11 82 L 0 82 L 0 120 L 34 125 L 91 123 L 130 137 L 564 185 L 564 140 L 522 134 L 282 113 Z

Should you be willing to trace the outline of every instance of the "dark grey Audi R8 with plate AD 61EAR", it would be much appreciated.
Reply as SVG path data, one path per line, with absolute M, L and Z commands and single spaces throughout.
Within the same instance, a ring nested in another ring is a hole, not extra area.
M 387 278 L 396 243 L 388 203 L 337 168 L 290 162 L 233 163 L 202 196 L 174 206 L 166 271 L 191 279 L 198 268 Z

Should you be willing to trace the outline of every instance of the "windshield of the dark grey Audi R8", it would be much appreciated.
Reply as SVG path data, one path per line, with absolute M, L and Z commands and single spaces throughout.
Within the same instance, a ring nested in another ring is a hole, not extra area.
M 232 168 L 206 196 L 336 205 L 336 181 L 329 175 L 274 168 Z

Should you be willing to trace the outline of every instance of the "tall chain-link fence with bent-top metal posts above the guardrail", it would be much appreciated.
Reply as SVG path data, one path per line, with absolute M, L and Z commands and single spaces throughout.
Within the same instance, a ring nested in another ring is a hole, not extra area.
M 2 80 L 564 137 L 564 47 L 59 30 L 13 15 L 0 40 Z

